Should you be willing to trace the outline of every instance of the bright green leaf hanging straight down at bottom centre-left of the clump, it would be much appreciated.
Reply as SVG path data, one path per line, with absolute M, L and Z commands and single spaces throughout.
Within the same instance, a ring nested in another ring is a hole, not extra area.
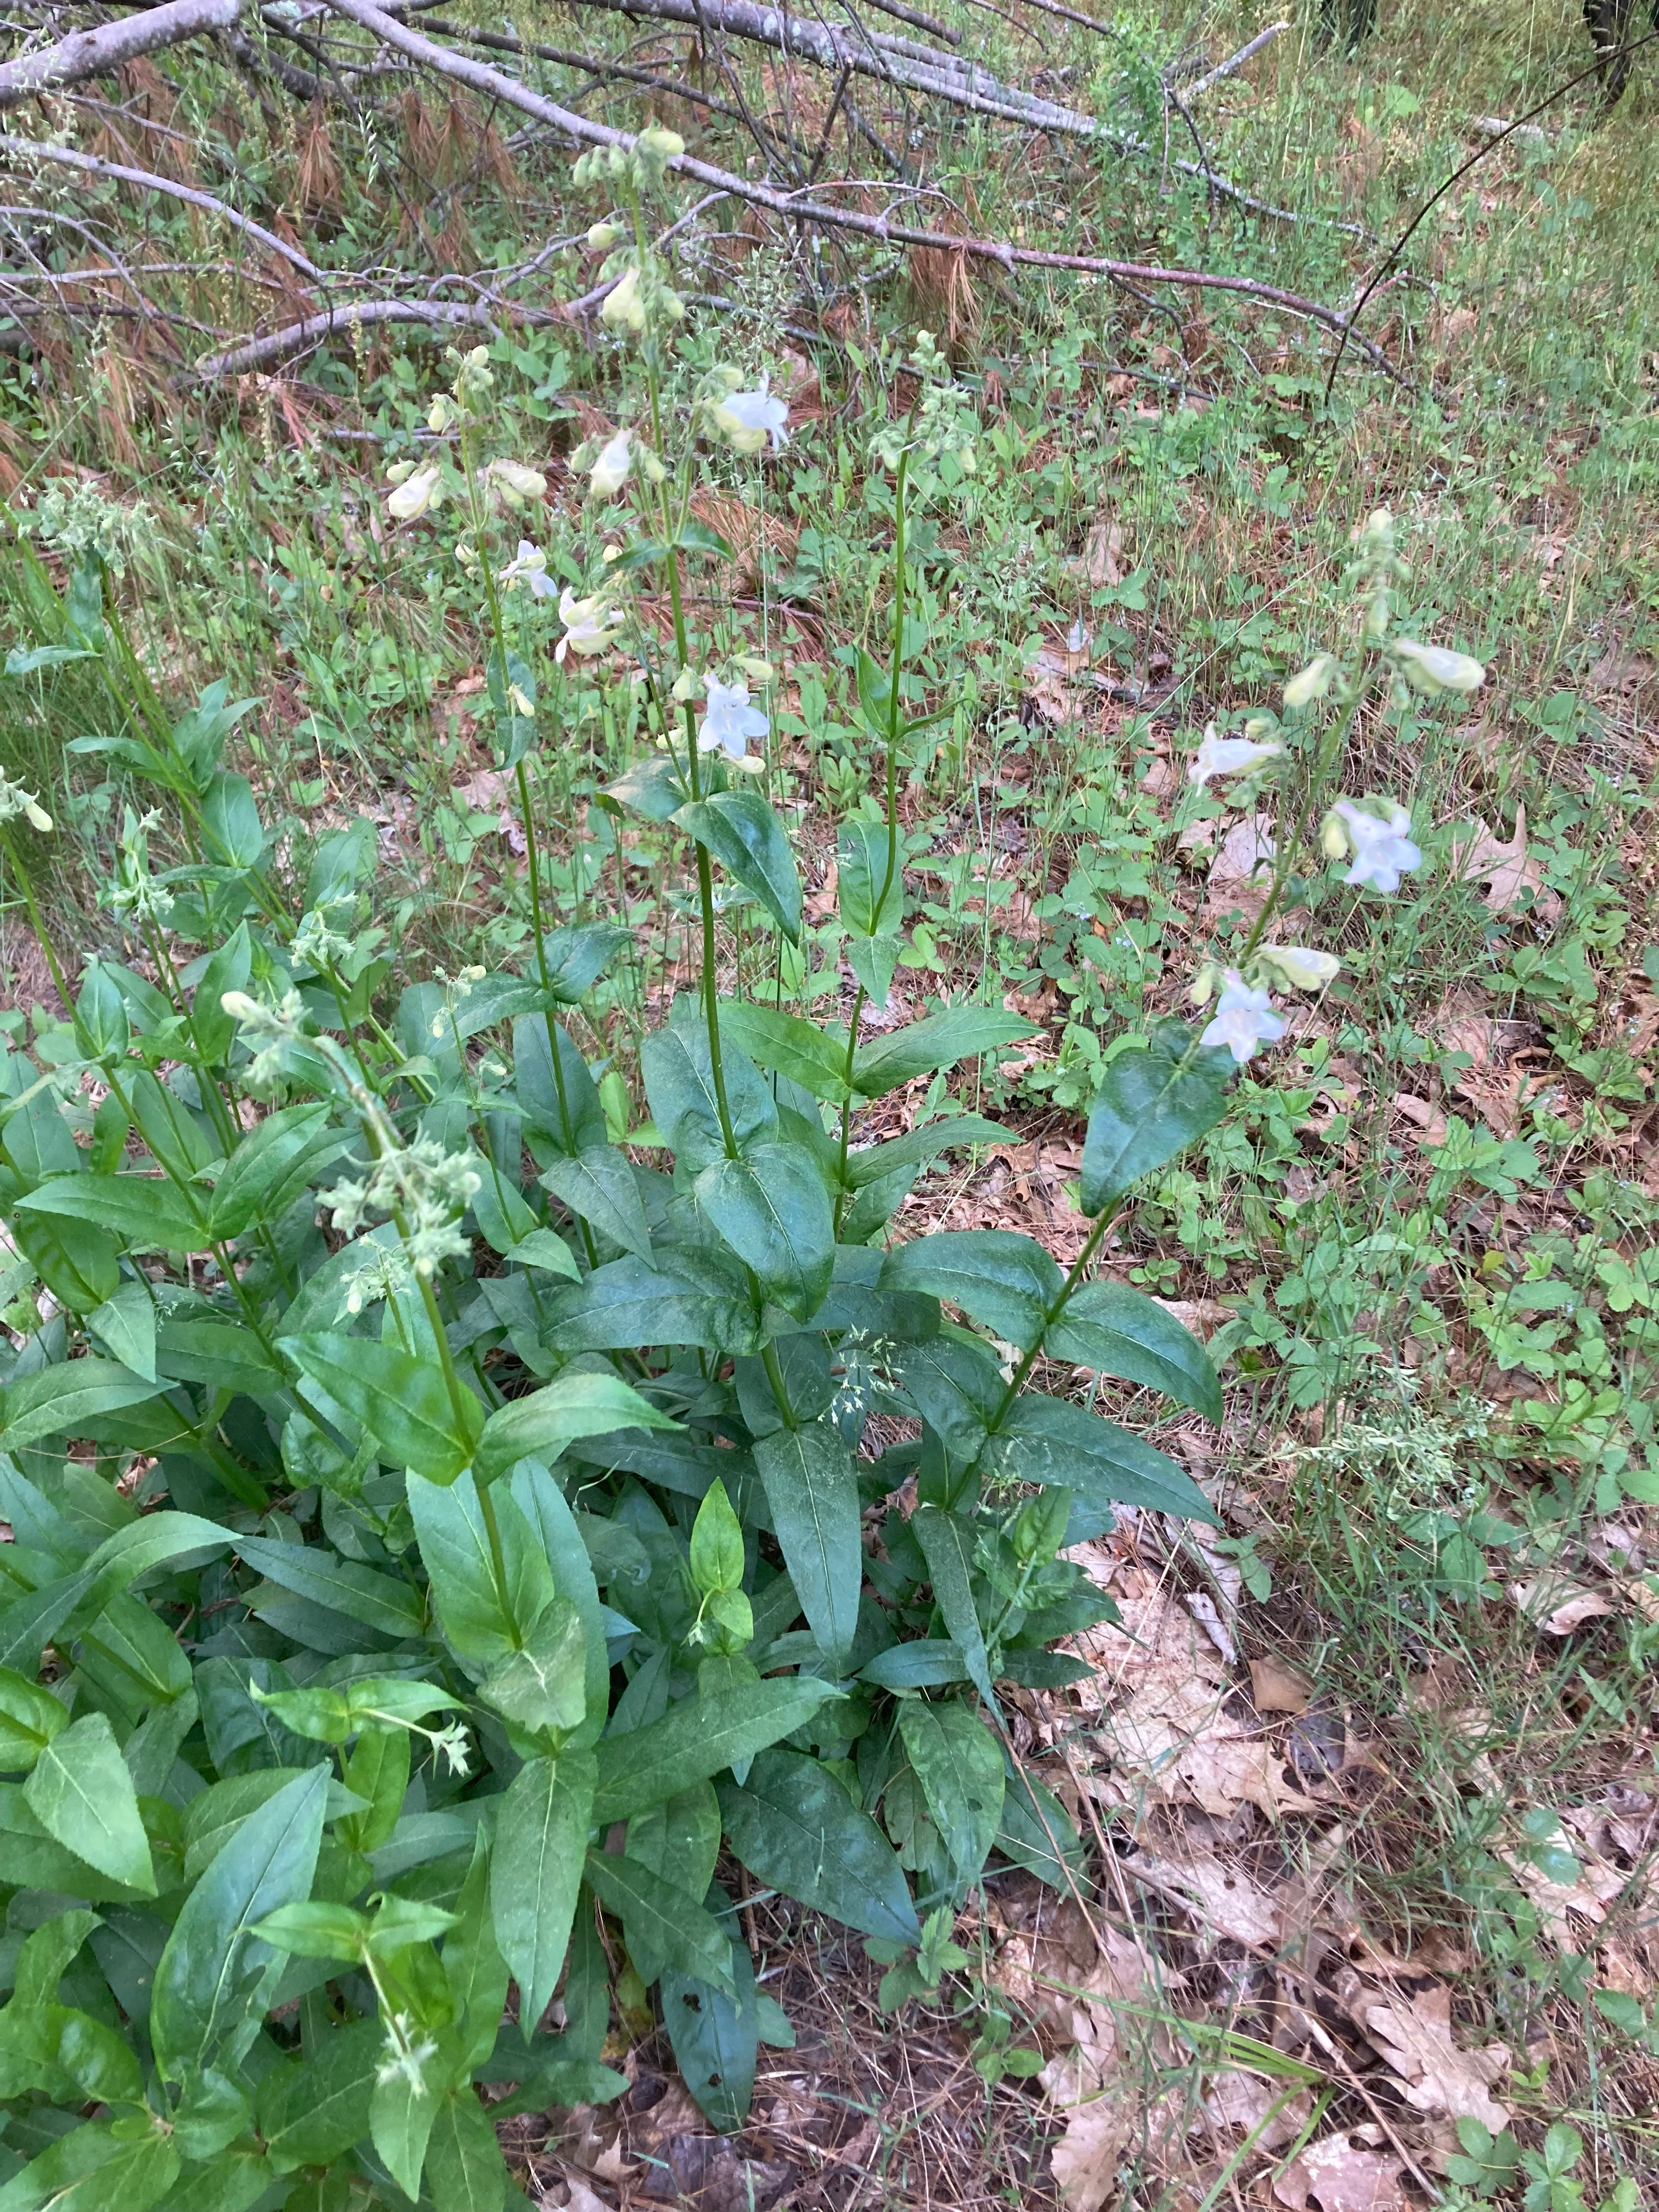
M 518 2017 L 531 2026 L 553 1997 L 571 1942 L 593 1825 L 593 1752 L 526 1759 L 500 1798 L 489 1909 L 518 1982 Z

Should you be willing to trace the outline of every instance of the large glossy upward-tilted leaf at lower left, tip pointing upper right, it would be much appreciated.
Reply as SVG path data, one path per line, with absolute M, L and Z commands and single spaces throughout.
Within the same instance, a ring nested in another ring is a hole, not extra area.
M 212 2064 L 234 2070 L 259 2035 L 283 1953 L 250 1929 L 310 1896 L 327 1776 L 321 1763 L 250 1814 L 184 1900 L 150 1997 L 150 2046 L 164 2081 Z

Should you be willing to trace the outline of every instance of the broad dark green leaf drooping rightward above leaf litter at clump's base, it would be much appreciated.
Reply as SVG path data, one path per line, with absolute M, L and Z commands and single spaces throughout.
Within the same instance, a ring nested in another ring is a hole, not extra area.
M 865 1936 L 920 1942 L 891 1843 L 816 1759 L 761 1752 L 741 1790 L 717 1787 L 732 1849 L 761 1882 Z

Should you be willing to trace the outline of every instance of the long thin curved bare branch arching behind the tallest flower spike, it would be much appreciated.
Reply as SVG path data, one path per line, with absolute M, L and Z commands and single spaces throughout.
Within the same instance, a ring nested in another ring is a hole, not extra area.
M 500 100 L 504 106 L 518 108 L 522 115 L 533 115 L 535 122 L 564 131 L 566 137 L 575 139 L 580 146 L 633 146 L 635 135 L 630 131 L 613 131 L 608 124 L 595 124 L 586 115 L 575 115 L 571 108 L 562 108 L 555 100 L 544 100 L 542 93 L 533 93 L 529 84 L 520 84 L 518 77 L 509 77 L 500 69 L 491 69 L 487 62 L 473 62 L 465 53 L 451 53 L 447 46 L 434 44 L 434 40 L 422 38 L 420 31 L 411 31 L 407 24 L 398 22 L 396 15 L 387 15 L 385 9 L 374 7 L 372 0 L 327 0 L 327 4 L 336 15 L 345 15 L 365 31 L 374 31 L 376 38 L 394 51 L 407 55 L 411 62 L 420 62 L 425 69 L 436 71 L 440 77 L 451 77 L 456 84 L 469 84 L 487 100 Z M 889 223 L 885 215 L 865 215 L 858 208 L 836 208 L 825 199 L 810 197 L 810 192 L 774 192 L 772 186 L 754 184 L 752 179 L 739 177 L 728 168 L 714 168 L 712 161 L 699 161 L 688 153 L 677 155 L 668 166 L 681 177 L 690 177 L 717 192 L 730 192 L 732 199 L 745 199 L 754 208 L 765 208 L 794 228 L 803 223 L 823 223 L 834 230 L 849 230 L 856 237 L 876 239 L 880 246 L 920 246 L 942 254 L 962 254 L 971 261 L 995 261 L 1004 270 L 1071 270 L 1079 276 L 1106 276 L 1110 281 L 1172 283 L 1192 292 L 1234 292 L 1241 299 L 1261 301 L 1265 307 L 1279 307 L 1281 312 L 1294 314 L 1303 321 L 1321 323 L 1325 330 L 1334 330 L 1340 338 L 1349 336 L 1347 319 L 1334 307 L 1325 307 L 1316 299 L 1303 299 L 1296 292 L 1285 292 L 1281 285 L 1256 283 L 1254 276 L 1212 276 L 1206 270 L 1168 270 L 1141 261 L 1108 261 L 1104 254 L 1055 254 L 1035 246 L 1009 246 L 1002 239 L 958 239 L 947 230 L 914 230 L 907 223 Z M 1358 334 L 1352 336 L 1376 367 L 1385 369 L 1389 376 L 1400 376 L 1378 345 L 1371 345 L 1369 338 L 1360 338 Z

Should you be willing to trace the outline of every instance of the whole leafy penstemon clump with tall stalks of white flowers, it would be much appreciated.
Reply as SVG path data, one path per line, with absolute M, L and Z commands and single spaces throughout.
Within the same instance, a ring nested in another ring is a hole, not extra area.
M 692 493 L 708 442 L 759 462 L 787 411 L 677 349 L 646 234 L 675 144 L 577 170 L 619 208 L 595 243 L 637 400 L 575 456 L 608 538 L 591 588 L 518 535 L 546 484 L 489 451 L 482 352 L 389 498 L 409 526 L 460 518 L 522 812 L 524 973 L 409 980 L 372 918 L 372 825 L 279 843 L 223 765 L 248 703 L 215 686 L 168 714 L 97 546 L 71 575 L 49 653 L 100 661 L 115 723 L 82 745 L 157 812 L 128 807 L 106 885 L 128 958 L 88 962 L 73 1020 L 0 1062 L 0 2212 L 493 2212 L 518 2201 L 498 2119 L 626 2086 L 613 1993 L 637 2015 L 655 1989 L 690 2093 L 741 2126 L 757 2046 L 790 2026 L 723 1854 L 869 1938 L 891 2002 L 933 1989 L 987 1867 L 1086 1878 L 998 1703 L 1082 1672 L 1053 1646 L 1110 1615 L 1066 1546 L 1115 1504 L 1212 1517 L 1037 1363 L 1221 1416 L 1203 1347 L 1091 1265 L 1137 1179 L 1221 1117 L 1274 1033 L 1267 987 L 1329 973 L 1265 936 L 1294 838 L 1243 951 L 1199 978 L 1221 982 L 1210 1026 L 1110 1060 L 1071 1270 L 1013 1232 L 887 1239 L 931 1159 L 1000 1130 L 949 1115 L 860 1144 L 860 1108 L 1024 1033 L 956 1004 L 860 1040 L 905 945 L 898 768 L 929 719 L 905 533 L 971 467 L 973 425 L 922 343 L 874 453 L 894 604 L 887 661 L 858 664 L 885 807 L 838 845 L 854 1000 L 807 1022 L 721 987 L 723 907 L 799 945 L 801 880 L 750 750 L 765 670 L 719 619 L 692 628 L 690 564 L 726 551 Z M 1387 608 L 1371 659 L 1292 686 L 1292 712 L 1338 710 L 1298 832 L 1365 668 L 1469 681 L 1385 633 Z M 628 933 L 549 925 L 533 774 L 557 670 L 615 648 L 657 743 L 608 801 L 690 845 L 701 920 L 699 987 L 639 1053 L 633 1150 L 571 1031 Z M 1206 739 L 1194 774 L 1259 776 L 1281 743 Z M 0 845 L 44 936 L 24 823 L 51 827 L 7 787 Z M 1416 858 L 1376 805 L 1325 825 L 1349 880 Z M 860 1449 L 872 1413 L 918 1433 Z

